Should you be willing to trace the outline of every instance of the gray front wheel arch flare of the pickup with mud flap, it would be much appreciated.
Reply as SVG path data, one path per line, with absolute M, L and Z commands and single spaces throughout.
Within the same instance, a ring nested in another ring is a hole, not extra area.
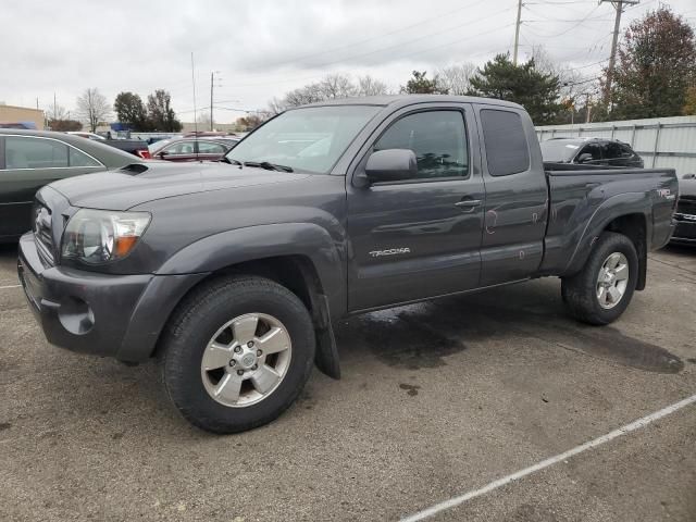
M 156 287 L 141 296 L 117 358 L 141 361 L 157 356 L 164 326 L 179 303 L 202 284 L 229 275 L 257 275 L 285 286 L 304 303 L 315 326 L 316 364 L 338 378 L 331 318 L 346 313 L 340 245 L 326 229 L 308 223 L 228 231 L 189 245 L 162 265 Z

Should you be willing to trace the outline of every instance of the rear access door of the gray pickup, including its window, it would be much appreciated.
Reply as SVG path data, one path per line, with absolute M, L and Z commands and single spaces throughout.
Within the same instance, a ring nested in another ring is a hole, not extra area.
M 542 153 L 526 112 L 499 105 L 476 109 L 486 185 L 481 286 L 489 286 L 523 279 L 537 271 L 544 252 L 548 192 Z

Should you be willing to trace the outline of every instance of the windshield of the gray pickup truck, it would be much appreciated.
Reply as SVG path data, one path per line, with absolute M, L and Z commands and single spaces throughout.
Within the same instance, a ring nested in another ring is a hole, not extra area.
M 308 107 L 285 112 L 227 153 L 232 162 L 274 163 L 327 173 L 380 107 Z

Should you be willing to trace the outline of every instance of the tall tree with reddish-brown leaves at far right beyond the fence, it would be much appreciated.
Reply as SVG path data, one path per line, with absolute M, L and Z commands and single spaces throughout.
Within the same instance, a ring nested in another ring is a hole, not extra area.
M 675 116 L 696 78 L 694 29 L 669 8 L 631 24 L 613 74 L 612 119 Z

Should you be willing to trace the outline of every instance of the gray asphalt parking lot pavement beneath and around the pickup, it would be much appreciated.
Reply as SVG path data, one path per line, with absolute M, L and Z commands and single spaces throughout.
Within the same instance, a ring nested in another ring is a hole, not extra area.
M 340 381 L 315 371 L 231 436 L 186 423 L 154 363 L 49 346 L 15 256 L 0 247 L 2 521 L 696 520 L 696 401 L 670 408 L 696 396 L 696 250 L 650 253 L 606 327 L 568 319 L 555 278 L 353 318 Z

